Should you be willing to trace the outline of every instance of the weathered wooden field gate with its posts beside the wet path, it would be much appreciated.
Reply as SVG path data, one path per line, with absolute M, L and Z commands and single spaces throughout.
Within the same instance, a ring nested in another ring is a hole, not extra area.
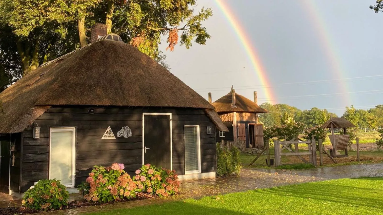
M 306 143 L 308 145 L 309 151 L 308 152 L 299 152 L 298 151 L 298 144 L 300 143 Z M 293 144 L 295 145 L 295 151 L 291 150 L 288 145 Z M 290 151 L 286 153 L 282 153 L 282 148 Z M 279 141 L 274 140 L 274 155 L 275 155 L 275 162 L 274 165 L 280 166 L 281 165 L 281 156 L 282 155 L 295 155 L 298 158 L 300 158 L 304 163 L 313 163 L 313 165 L 316 167 L 316 145 L 315 140 L 308 140 L 308 141 Z M 306 161 L 301 155 L 309 155 L 310 161 Z

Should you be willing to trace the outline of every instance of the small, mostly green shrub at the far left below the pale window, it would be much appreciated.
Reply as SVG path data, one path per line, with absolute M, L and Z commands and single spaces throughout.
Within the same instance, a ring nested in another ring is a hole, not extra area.
M 35 210 L 57 210 L 68 204 L 69 192 L 56 179 L 42 179 L 24 193 L 22 204 Z

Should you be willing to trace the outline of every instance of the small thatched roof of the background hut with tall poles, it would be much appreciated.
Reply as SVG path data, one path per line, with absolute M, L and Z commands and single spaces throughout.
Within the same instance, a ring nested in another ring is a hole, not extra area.
M 222 96 L 213 102 L 213 106 L 217 112 L 256 112 L 267 113 L 266 109 L 261 108 L 250 99 L 236 93 L 236 108 L 232 108 L 231 92 Z

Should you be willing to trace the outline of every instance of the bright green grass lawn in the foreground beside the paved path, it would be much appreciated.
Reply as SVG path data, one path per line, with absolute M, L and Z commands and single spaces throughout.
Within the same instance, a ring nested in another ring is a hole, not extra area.
M 337 179 L 89 215 L 383 214 L 383 178 Z

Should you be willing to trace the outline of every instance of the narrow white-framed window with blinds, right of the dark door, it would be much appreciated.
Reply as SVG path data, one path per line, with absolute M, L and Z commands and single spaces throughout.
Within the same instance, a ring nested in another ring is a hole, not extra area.
M 185 174 L 201 172 L 200 126 L 185 125 Z

